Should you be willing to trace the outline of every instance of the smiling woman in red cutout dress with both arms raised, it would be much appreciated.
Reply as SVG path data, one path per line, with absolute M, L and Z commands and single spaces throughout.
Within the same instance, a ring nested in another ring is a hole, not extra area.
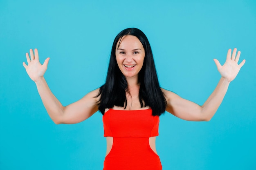
M 115 38 L 106 83 L 68 106 L 56 99 L 43 77 L 49 58 L 42 65 L 37 49 L 30 49 L 28 65 L 23 62 L 23 66 L 54 123 L 79 123 L 98 110 L 103 114 L 107 140 L 104 170 L 162 170 L 155 148 L 159 115 L 166 110 L 181 119 L 209 121 L 245 64 L 245 60 L 238 64 L 240 51 L 236 52 L 234 49 L 231 55 L 228 50 L 223 66 L 214 59 L 221 78 L 202 106 L 160 88 L 150 44 L 136 28 L 125 29 Z

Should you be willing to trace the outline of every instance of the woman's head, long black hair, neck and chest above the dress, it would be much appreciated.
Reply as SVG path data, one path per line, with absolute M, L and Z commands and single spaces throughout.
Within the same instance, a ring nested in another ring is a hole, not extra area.
M 166 98 L 159 86 L 150 44 L 141 30 L 124 29 L 116 36 L 106 83 L 101 86 L 98 97 L 102 114 L 106 108 L 137 110 L 146 107 L 152 109 L 153 115 L 164 113 Z

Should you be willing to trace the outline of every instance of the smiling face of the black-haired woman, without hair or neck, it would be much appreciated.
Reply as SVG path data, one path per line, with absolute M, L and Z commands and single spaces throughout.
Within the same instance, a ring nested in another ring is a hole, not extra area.
M 120 41 L 120 40 L 119 40 Z M 139 39 L 133 35 L 125 35 L 116 47 L 116 58 L 119 69 L 126 78 L 138 77 L 145 57 L 145 50 Z

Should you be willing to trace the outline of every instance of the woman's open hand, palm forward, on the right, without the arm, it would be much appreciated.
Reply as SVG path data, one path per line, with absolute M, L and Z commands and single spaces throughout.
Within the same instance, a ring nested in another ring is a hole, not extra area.
M 213 59 L 218 68 L 218 71 L 220 72 L 220 75 L 223 78 L 227 79 L 227 81 L 229 82 L 236 78 L 236 75 L 240 71 L 240 68 L 245 64 L 245 60 L 238 64 L 241 52 L 238 51 L 236 55 L 236 51 L 237 49 L 235 48 L 231 56 L 231 49 L 229 49 L 229 51 L 227 52 L 226 62 L 223 64 L 223 66 L 217 59 Z

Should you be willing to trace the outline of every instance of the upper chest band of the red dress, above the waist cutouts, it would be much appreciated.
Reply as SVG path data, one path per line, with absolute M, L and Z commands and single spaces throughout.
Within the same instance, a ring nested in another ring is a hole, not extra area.
M 159 116 L 153 116 L 151 109 L 109 109 L 102 119 L 104 137 L 158 136 Z

